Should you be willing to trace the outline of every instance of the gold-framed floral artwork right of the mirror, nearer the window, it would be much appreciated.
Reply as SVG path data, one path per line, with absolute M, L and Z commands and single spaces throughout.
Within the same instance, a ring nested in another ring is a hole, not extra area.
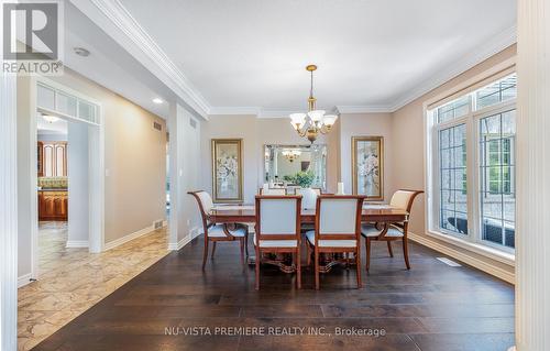
M 384 138 L 353 136 L 351 151 L 353 194 L 384 200 Z

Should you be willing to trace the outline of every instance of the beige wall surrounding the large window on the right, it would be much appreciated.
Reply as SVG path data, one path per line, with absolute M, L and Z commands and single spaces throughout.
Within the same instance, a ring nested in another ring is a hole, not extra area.
M 513 45 L 393 113 L 393 156 L 389 164 L 389 168 L 392 168 L 393 174 L 392 191 L 399 188 L 426 189 L 424 103 L 433 97 L 452 90 L 453 87 L 457 87 L 461 83 L 472 79 L 476 75 L 482 74 L 495 65 L 514 57 L 515 55 L 516 45 Z M 420 196 L 415 202 L 411 211 L 410 231 L 425 235 L 425 196 Z M 452 246 L 453 250 L 464 252 L 452 244 L 437 240 L 432 237 L 426 237 L 426 239 L 435 241 L 443 246 Z M 469 254 L 477 260 L 486 260 L 473 253 Z M 492 262 L 492 264 L 504 266 L 504 270 L 510 272 L 514 271 L 513 267 L 502 265 L 498 262 Z

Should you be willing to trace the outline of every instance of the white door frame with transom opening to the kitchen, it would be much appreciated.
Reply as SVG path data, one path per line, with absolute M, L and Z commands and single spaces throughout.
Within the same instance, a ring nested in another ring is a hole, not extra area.
M 80 98 L 82 100 L 95 103 L 98 109 L 98 124 L 91 123 L 89 121 L 76 118 L 74 116 L 68 116 L 61 113 L 58 111 L 51 111 L 44 108 L 37 107 L 37 95 L 36 86 L 38 83 L 46 85 L 48 87 L 62 90 L 72 96 Z M 74 89 L 70 89 L 62 84 L 47 79 L 45 77 L 37 77 L 35 81 L 32 83 L 31 111 L 43 111 L 48 114 L 58 116 L 64 120 L 76 121 L 79 123 L 88 124 L 88 154 L 89 154 L 89 183 L 88 183 L 88 194 L 89 194 L 89 252 L 98 253 L 102 252 L 105 249 L 105 113 L 101 103 L 88 96 L 80 94 Z M 31 150 L 36 151 L 36 119 L 31 120 Z M 32 226 L 32 277 L 38 278 L 38 213 L 37 213 L 37 165 L 36 155 L 31 157 L 31 197 L 32 202 L 36 206 L 32 206 L 31 209 L 31 220 Z M 69 195 L 70 196 L 70 195 Z

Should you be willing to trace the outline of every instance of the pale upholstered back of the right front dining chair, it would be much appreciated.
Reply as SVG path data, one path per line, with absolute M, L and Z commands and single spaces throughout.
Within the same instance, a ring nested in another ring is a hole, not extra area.
M 364 196 L 358 195 L 319 196 L 316 209 L 316 241 L 358 240 L 359 244 L 364 199 Z

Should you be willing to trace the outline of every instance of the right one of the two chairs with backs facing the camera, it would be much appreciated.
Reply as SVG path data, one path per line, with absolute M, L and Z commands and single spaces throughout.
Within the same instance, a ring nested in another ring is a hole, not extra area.
M 321 195 L 317 198 L 315 230 L 306 233 L 308 265 L 311 250 L 315 260 L 315 288 L 319 289 L 319 256 L 321 253 L 353 253 L 358 288 L 361 288 L 361 212 L 364 196 Z

